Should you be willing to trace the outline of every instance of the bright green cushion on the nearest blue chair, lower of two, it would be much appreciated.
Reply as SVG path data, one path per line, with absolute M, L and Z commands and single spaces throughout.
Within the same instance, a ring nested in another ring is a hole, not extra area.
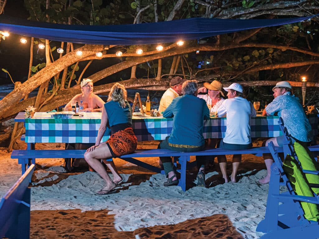
M 290 155 L 286 156 L 283 163 L 283 169 L 293 187 L 293 191 L 300 196 L 314 197 L 314 193 L 311 190 L 305 174 L 297 163 L 297 161 Z M 315 198 L 315 197 L 314 197 Z M 300 202 L 304 211 L 304 216 L 307 220 L 318 221 L 319 219 L 319 205 Z

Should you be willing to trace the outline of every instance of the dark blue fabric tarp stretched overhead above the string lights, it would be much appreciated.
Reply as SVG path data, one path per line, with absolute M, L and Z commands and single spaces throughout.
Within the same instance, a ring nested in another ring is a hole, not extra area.
M 318 14 L 319 15 L 319 14 Z M 317 15 L 315 15 L 317 16 Z M 130 25 L 63 25 L 0 16 L 0 31 L 83 44 L 135 45 L 175 42 L 216 36 L 253 28 L 278 26 L 311 17 L 282 19 L 188 18 Z

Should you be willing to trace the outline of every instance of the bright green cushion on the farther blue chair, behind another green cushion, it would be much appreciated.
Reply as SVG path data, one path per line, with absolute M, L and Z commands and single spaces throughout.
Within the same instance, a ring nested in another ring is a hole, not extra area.
M 293 148 L 298 156 L 298 160 L 303 170 L 319 171 L 319 167 L 312 153 L 307 147 L 302 146 L 300 143 L 295 142 Z M 319 184 L 319 175 L 306 173 L 306 178 L 309 184 Z M 319 194 L 319 188 L 311 188 L 315 194 Z

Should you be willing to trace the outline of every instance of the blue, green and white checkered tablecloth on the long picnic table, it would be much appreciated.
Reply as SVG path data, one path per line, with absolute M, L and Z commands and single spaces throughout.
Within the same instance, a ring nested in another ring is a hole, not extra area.
M 36 112 L 32 119 L 25 119 L 27 143 L 95 143 L 101 123 L 101 113 L 89 112 L 84 117 L 54 119 L 49 113 Z M 318 117 L 309 117 L 314 135 L 318 134 Z M 164 140 L 172 131 L 173 119 L 148 117 L 134 113 L 133 130 L 138 141 Z M 226 118 L 204 121 L 204 138 L 224 138 Z M 108 140 L 107 129 L 102 141 Z M 278 116 L 255 117 L 251 119 L 251 137 L 276 137 L 281 135 Z

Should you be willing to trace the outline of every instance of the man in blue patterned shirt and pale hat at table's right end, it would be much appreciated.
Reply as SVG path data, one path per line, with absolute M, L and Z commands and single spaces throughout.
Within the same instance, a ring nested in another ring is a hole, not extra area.
M 311 126 L 299 99 L 292 94 L 291 85 L 289 82 L 281 81 L 272 88 L 272 91 L 274 92 L 273 96 L 275 98 L 264 109 L 263 115 L 269 116 L 277 113 L 284 121 L 287 131 L 291 135 L 291 139 L 307 146 L 313 139 Z M 267 146 L 269 142 L 273 142 L 277 147 L 282 147 L 283 136 L 271 138 L 263 142 L 263 146 Z M 264 154 L 263 158 L 267 168 L 267 176 L 259 180 L 259 182 L 266 184 L 269 183 L 270 167 L 274 160 L 271 154 Z

